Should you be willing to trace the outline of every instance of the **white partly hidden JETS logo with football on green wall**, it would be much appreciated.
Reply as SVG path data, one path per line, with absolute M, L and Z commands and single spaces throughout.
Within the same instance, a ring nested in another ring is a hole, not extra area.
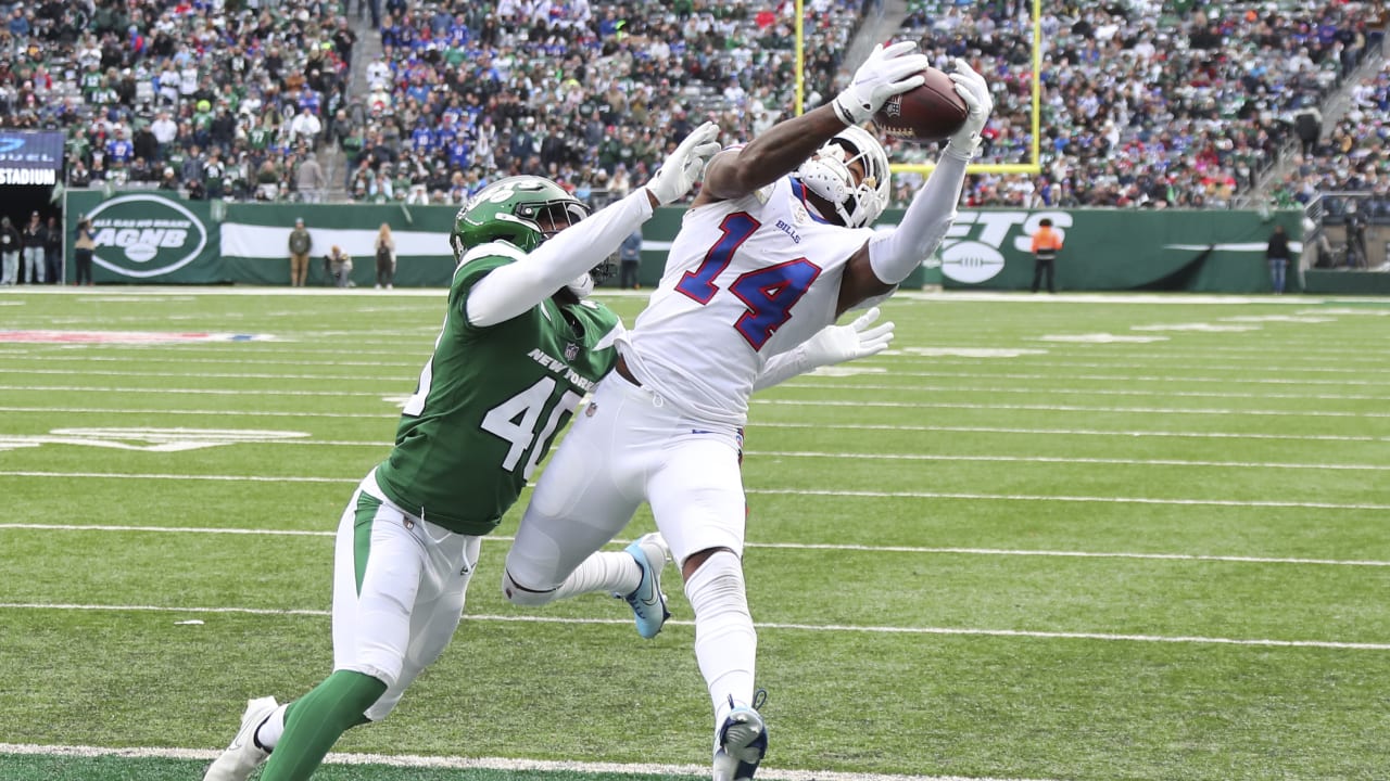
M 1033 233 L 1044 217 L 1066 239 L 1072 215 L 1065 211 L 962 211 L 941 242 L 941 274 L 965 285 L 977 285 L 1004 271 L 1001 249 L 1013 236 L 1013 250 L 1031 257 Z

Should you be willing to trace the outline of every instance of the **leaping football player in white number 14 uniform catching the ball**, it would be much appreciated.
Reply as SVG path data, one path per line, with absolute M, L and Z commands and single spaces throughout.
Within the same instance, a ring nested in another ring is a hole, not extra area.
M 951 79 L 965 125 L 902 222 L 870 228 L 888 199 L 888 158 L 859 125 L 920 85 L 926 67 L 910 42 L 877 47 L 831 104 L 710 160 L 660 285 L 537 484 L 507 554 L 503 592 L 517 605 L 623 592 L 632 556 L 596 552 L 651 504 L 695 611 L 714 781 L 752 778 L 767 749 L 742 573 L 748 397 L 803 371 L 813 335 L 890 295 L 951 227 L 992 110 L 984 79 L 960 61 Z M 644 570 L 653 599 L 628 602 L 652 636 L 666 610 L 660 567 Z

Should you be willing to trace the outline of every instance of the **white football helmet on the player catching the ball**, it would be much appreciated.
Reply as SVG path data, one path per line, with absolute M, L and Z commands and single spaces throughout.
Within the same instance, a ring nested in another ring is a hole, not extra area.
M 856 160 L 865 170 L 858 183 L 849 170 Z M 840 131 L 801 164 L 796 176 L 810 192 L 833 203 L 835 214 L 849 228 L 872 224 L 888 206 L 888 154 L 878 139 L 860 126 Z

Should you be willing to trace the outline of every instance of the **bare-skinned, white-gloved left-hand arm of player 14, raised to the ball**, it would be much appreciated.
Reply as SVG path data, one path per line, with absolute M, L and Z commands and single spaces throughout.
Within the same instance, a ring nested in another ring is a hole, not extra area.
M 929 60 L 916 49 L 917 44 L 910 40 L 887 49 L 876 46 L 855 71 L 849 86 L 830 104 L 777 122 L 746 146 L 716 156 L 705 171 L 705 186 L 695 206 L 744 197 L 776 182 L 795 171 L 835 133 L 873 117 L 894 94 L 920 86 Z

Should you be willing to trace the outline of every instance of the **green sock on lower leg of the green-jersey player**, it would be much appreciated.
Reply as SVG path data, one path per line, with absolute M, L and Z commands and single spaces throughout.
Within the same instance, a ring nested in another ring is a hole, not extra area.
M 261 781 L 303 781 L 322 764 L 328 749 L 357 724 L 386 684 L 349 670 L 339 670 L 295 700 L 285 710 L 285 734 L 275 743 Z

